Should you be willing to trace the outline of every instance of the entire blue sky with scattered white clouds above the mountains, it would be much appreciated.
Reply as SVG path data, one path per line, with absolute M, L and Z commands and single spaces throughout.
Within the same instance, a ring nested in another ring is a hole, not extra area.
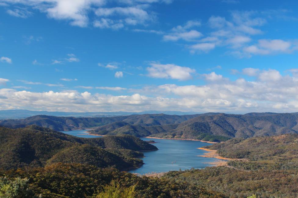
M 298 111 L 298 1 L 0 0 L 0 110 Z

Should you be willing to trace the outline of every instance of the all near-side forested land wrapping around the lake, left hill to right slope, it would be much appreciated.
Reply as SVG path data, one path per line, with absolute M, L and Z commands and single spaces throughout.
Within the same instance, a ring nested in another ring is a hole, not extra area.
M 138 176 L 130 135 L 84 139 L 38 126 L 0 128 L 0 197 L 296 197 L 298 135 L 234 138 L 205 148 L 237 158 L 223 166 Z M 13 196 L 18 195 L 18 196 Z

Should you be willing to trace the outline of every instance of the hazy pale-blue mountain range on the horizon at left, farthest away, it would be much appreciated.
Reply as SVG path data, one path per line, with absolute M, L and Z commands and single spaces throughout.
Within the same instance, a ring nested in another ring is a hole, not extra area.
M 52 115 L 64 117 L 114 117 L 122 115 L 141 115 L 141 114 L 168 114 L 168 115 L 192 115 L 197 112 L 183 112 L 183 111 L 142 111 L 142 112 L 59 112 L 59 111 L 29 111 L 29 110 L 1 110 L 0 119 L 20 119 L 27 118 L 34 115 Z

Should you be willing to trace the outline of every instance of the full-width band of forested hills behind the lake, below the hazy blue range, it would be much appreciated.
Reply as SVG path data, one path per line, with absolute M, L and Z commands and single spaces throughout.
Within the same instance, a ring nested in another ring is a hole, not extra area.
M 205 113 L 194 115 L 144 114 L 105 118 L 74 118 L 37 115 L 1 120 L 1 126 L 20 128 L 37 125 L 54 130 L 86 129 L 99 135 L 129 134 L 137 137 L 182 138 L 226 141 L 230 138 L 298 133 L 298 113 Z

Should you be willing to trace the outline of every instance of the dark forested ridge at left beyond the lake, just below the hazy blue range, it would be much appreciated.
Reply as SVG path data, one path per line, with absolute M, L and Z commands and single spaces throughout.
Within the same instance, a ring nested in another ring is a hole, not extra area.
M 48 115 L 36 115 L 24 119 L 0 120 L 0 126 L 9 128 L 21 128 L 29 125 L 47 127 L 57 131 L 74 129 L 85 129 L 88 127 L 103 126 L 113 122 L 123 121 L 131 125 L 152 126 L 176 124 L 194 118 L 196 115 L 165 115 L 165 114 L 143 114 L 126 115 L 109 118 L 75 118 L 57 117 Z

